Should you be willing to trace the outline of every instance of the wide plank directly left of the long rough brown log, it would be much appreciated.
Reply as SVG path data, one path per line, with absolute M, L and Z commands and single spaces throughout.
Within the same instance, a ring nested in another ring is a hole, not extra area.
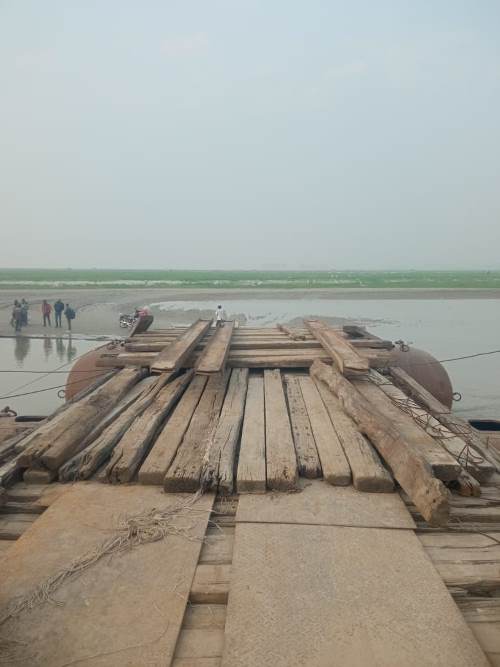
M 323 382 L 314 381 L 349 461 L 354 488 L 370 493 L 394 491 L 391 474 L 356 424 L 346 415 L 339 399 Z

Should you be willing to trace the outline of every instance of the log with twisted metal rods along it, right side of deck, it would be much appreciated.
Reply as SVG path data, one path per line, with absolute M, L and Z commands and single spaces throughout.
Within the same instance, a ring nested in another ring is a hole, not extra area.
M 396 405 L 403 406 L 419 420 L 424 430 L 442 443 L 443 448 L 455 458 L 460 465 L 466 468 L 478 482 L 487 482 L 495 472 L 494 466 L 488 461 L 482 460 L 475 452 L 475 456 L 467 456 L 467 445 L 462 438 L 452 433 L 446 426 L 441 424 L 433 415 L 422 408 L 413 398 L 407 396 L 399 387 L 392 384 L 389 378 L 380 375 L 376 371 L 370 371 L 371 377 L 375 379 L 380 389 Z M 436 473 L 436 477 L 439 475 Z M 444 478 L 443 478 L 444 479 Z

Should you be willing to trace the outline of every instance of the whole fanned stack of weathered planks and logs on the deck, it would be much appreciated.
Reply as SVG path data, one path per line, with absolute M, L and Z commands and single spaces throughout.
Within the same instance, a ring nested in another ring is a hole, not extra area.
M 167 492 L 293 491 L 299 478 L 388 493 L 443 525 L 448 488 L 477 497 L 498 462 L 404 371 L 389 341 L 308 321 L 290 329 L 137 329 L 112 370 L 2 445 L 0 486 L 138 481 Z M 385 373 L 385 374 L 383 374 Z

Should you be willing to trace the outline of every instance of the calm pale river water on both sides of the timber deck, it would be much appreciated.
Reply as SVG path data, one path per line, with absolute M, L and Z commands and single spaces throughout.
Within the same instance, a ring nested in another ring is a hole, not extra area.
M 161 312 L 163 326 L 165 321 L 167 325 L 189 324 L 198 317 L 212 317 L 217 304 L 164 301 L 150 305 L 157 315 Z M 363 324 L 378 336 L 411 342 L 437 359 L 500 349 L 500 301 L 495 299 L 238 298 L 222 305 L 228 319 L 237 319 L 242 326 L 298 324 L 309 317 L 322 317 L 337 324 L 347 321 Z M 0 339 L 0 409 L 10 405 L 20 414 L 51 412 L 62 401 L 57 389 L 18 398 L 4 397 L 64 385 L 74 360 L 102 344 L 74 337 Z M 467 418 L 500 419 L 500 354 L 444 365 L 454 390 L 462 394 L 462 401 L 454 407 L 457 412 Z M 55 370 L 62 372 L 40 373 Z

